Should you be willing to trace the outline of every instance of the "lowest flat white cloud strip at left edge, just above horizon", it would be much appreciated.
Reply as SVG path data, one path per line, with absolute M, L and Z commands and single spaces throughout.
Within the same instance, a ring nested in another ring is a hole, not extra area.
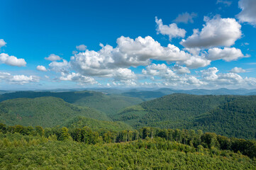
M 31 82 L 38 82 L 39 77 L 25 76 L 25 75 L 11 75 L 7 72 L 0 72 L 0 80 L 6 81 L 9 84 L 28 84 Z

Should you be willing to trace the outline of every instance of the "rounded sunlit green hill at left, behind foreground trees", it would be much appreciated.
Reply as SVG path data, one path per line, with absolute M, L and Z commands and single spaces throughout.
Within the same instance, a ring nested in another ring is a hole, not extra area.
M 104 113 L 92 108 L 78 107 L 61 98 L 16 98 L 0 103 L 0 122 L 7 125 L 40 125 L 52 127 L 82 115 L 98 120 L 110 120 Z

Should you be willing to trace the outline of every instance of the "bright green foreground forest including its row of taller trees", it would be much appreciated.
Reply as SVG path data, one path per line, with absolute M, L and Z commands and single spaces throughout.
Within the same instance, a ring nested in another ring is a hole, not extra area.
M 256 142 L 201 130 L 0 124 L 1 169 L 255 169 Z

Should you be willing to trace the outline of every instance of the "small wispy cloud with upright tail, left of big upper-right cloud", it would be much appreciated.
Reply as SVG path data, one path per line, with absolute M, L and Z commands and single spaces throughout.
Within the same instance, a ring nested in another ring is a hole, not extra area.
M 178 28 L 176 23 L 169 24 L 169 26 L 163 25 L 162 19 L 157 19 L 157 17 L 155 17 L 155 22 L 157 23 L 157 34 L 168 35 L 169 40 L 178 37 L 184 38 L 187 33 L 186 30 Z

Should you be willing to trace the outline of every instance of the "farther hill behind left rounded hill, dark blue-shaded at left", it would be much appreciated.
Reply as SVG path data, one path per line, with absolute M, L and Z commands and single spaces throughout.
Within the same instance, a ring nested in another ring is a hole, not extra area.
M 6 101 L 13 98 L 38 98 L 43 96 L 52 96 L 62 98 L 67 103 L 77 106 L 87 106 L 95 108 L 106 114 L 113 114 L 138 103 L 143 102 L 140 98 L 107 95 L 106 93 L 96 91 L 67 91 L 67 92 L 38 92 L 38 91 L 17 91 L 0 95 L 0 101 Z

